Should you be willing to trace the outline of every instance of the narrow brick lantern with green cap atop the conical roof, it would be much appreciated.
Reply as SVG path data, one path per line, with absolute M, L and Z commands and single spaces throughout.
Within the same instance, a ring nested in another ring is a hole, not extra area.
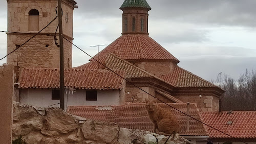
M 120 9 L 123 11 L 122 35 L 148 35 L 148 11 L 151 7 L 145 0 L 125 0 Z

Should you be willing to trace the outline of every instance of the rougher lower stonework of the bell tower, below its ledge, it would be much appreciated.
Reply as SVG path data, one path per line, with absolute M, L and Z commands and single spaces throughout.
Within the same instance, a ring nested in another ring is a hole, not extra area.
M 16 45 L 21 45 L 33 35 L 8 34 L 7 53 L 16 49 Z M 58 37 L 57 37 L 58 38 Z M 72 45 L 67 40 L 63 40 L 65 68 L 72 66 Z M 17 63 L 18 62 L 18 63 Z M 19 47 L 14 53 L 7 57 L 7 63 L 22 67 L 59 67 L 59 47 L 55 45 L 53 36 L 37 35 L 28 43 Z

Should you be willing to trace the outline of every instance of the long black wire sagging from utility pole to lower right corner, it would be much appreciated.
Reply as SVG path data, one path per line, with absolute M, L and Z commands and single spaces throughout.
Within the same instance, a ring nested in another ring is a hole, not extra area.
M 75 47 L 77 47 L 77 49 L 79 49 L 80 51 L 82 51 L 83 53 L 85 53 L 86 55 L 88 55 L 89 57 L 91 57 L 92 59 L 94 59 L 95 61 L 97 61 L 98 63 L 100 63 L 101 65 L 103 65 L 105 68 L 109 69 L 109 70 L 112 71 L 114 74 L 116 74 L 116 75 L 119 76 L 120 78 L 124 79 L 126 82 L 132 84 L 133 86 L 139 88 L 140 90 L 144 91 L 145 93 L 147 93 L 147 94 L 151 95 L 152 97 L 156 98 L 154 95 L 152 95 L 152 94 L 146 92 L 145 90 L 141 89 L 141 88 L 138 87 L 137 85 L 133 84 L 132 82 L 130 82 L 130 81 L 128 81 L 128 80 L 126 80 L 125 78 L 123 78 L 122 76 L 120 76 L 119 74 L 117 74 L 114 70 L 110 69 L 109 67 L 105 66 L 104 64 L 102 64 L 101 62 L 99 62 L 98 60 L 96 60 L 95 58 L 93 58 L 93 57 L 92 57 L 91 55 L 89 55 L 88 53 L 84 52 L 82 49 L 80 49 L 80 48 L 79 48 L 78 46 L 76 46 L 74 43 L 72 43 L 71 41 L 69 41 L 66 37 L 63 37 L 63 38 L 66 39 L 68 42 L 70 42 L 70 43 L 71 43 L 72 45 L 74 45 Z M 156 99 L 157 99 L 157 98 L 156 98 Z M 159 99 L 158 99 L 158 100 L 159 100 Z M 181 110 L 179 110 L 179 109 L 177 109 L 177 108 L 175 108 L 175 107 L 173 107 L 173 106 L 171 106 L 171 105 L 169 105 L 169 104 L 163 102 L 162 100 L 159 100 L 159 101 L 162 102 L 162 103 L 164 103 L 164 104 L 166 104 L 167 106 L 169 106 L 169 107 L 171 107 L 171 108 L 173 108 L 173 109 L 175 109 L 175 110 L 177 110 L 177 111 L 179 111 L 179 112 L 185 114 L 186 116 L 189 116 L 190 118 L 195 119 L 195 120 L 198 121 L 199 123 L 202 123 L 202 124 L 204 124 L 204 125 L 206 125 L 206 126 L 212 128 L 212 129 L 215 129 L 215 130 L 217 130 L 217 131 L 219 131 L 219 132 L 221 132 L 221 133 L 223 133 L 223 134 L 225 134 L 225 135 L 227 135 L 227 136 L 229 136 L 229 137 L 236 138 L 236 137 L 233 137 L 233 136 L 231 136 L 231 135 L 229 135 L 229 134 L 227 134 L 227 133 L 225 133 L 225 132 L 222 132 L 222 131 L 220 131 L 220 130 L 218 130 L 218 129 L 216 129 L 216 128 L 214 128 L 214 127 L 208 125 L 208 124 L 205 124 L 205 123 L 202 122 L 202 121 L 199 121 L 197 118 L 195 118 L 195 117 L 193 117 L 193 116 L 190 116 L 190 115 L 186 114 L 185 112 L 182 112 Z M 244 142 L 244 141 L 242 141 L 242 140 L 240 140 L 240 139 L 238 139 L 238 140 L 241 141 L 241 142 Z M 246 142 L 244 142 L 244 143 L 246 143 Z M 248 144 L 248 143 L 246 143 L 246 144 Z

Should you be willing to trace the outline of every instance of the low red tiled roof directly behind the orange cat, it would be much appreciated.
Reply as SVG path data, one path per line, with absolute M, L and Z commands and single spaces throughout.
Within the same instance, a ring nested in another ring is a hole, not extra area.
M 186 104 L 169 104 L 183 112 L 186 112 Z M 205 127 L 190 118 L 190 131 L 186 131 L 186 119 L 187 117 L 170 108 L 165 104 L 159 104 L 162 108 L 170 109 L 176 115 L 180 128 L 181 135 L 190 135 L 190 136 L 207 136 Z M 109 106 L 110 107 L 110 106 Z M 111 106 L 112 110 L 100 110 L 104 109 L 102 106 L 70 106 L 68 107 L 68 112 L 74 115 L 78 115 L 84 118 L 95 119 L 102 122 L 114 122 L 117 123 L 120 127 L 128 129 L 141 129 L 145 131 L 153 131 L 154 125 L 148 117 L 147 111 L 145 109 L 145 104 L 131 104 L 131 105 L 121 105 L 121 106 Z M 107 107 L 108 108 L 108 107 Z M 190 115 L 201 119 L 200 112 L 196 104 L 190 104 Z

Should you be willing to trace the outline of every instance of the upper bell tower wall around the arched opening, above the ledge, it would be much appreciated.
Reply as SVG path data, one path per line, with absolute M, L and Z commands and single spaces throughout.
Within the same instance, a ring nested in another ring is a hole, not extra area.
M 57 1 L 55 0 L 39 0 L 39 1 L 13 1 L 8 2 L 8 31 L 28 32 L 29 31 L 29 11 L 36 9 L 39 12 L 39 30 L 47 26 L 53 18 L 56 17 L 55 8 Z M 62 23 L 63 34 L 69 37 L 73 36 L 73 10 L 74 5 L 70 1 L 62 3 Z M 66 14 L 68 13 L 68 22 L 66 22 Z M 58 26 L 58 18 L 44 31 L 47 33 L 55 33 Z

